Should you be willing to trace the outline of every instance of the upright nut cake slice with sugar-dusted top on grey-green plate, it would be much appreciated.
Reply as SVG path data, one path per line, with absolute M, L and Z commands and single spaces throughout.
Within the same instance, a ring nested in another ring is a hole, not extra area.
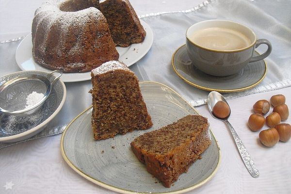
M 153 124 L 140 91 L 138 78 L 129 68 L 110 61 L 91 71 L 92 128 L 95 140 L 148 129 Z

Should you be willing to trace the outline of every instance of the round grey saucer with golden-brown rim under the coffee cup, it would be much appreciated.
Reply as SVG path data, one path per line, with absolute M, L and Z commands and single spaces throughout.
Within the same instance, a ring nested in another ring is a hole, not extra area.
M 255 52 L 255 56 L 259 53 Z M 177 75 L 196 88 L 223 93 L 241 92 L 258 85 L 267 75 L 265 60 L 249 63 L 239 73 L 225 77 L 211 76 L 198 70 L 187 54 L 186 45 L 172 56 L 172 66 Z

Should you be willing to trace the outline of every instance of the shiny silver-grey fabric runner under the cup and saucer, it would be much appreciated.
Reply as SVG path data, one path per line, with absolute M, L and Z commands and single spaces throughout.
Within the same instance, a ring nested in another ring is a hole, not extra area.
M 275 6 L 274 6 L 275 4 Z M 268 39 L 273 46 L 266 58 L 268 73 L 256 87 L 238 93 L 224 94 L 227 99 L 276 90 L 291 86 L 291 1 L 207 0 L 192 9 L 161 12 L 140 16 L 153 30 L 152 48 L 135 65 L 129 68 L 140 81 L 158 81 L 177 91 L 193 106 L 206 104 L 209 92 L 197 89 L 182 81 L 172 69 L 171 57 L 179 46 L 185 44 L 185 32 L 192 24 L 207 19 L 230 19 L 249 26 L 258 38 Z M 247 14 L 246 14 L 247 13 Z M 0 44 L 0 77 L 20 71 L 15 52 L 20 38 Z M 266 48 L 259 47 L 262 53 Z M 46 129 L 31 139 L 63 132 L 65 126 L 91 103 L 91 81 L 65 83 L 67 97 L 60 113 Z M 57 127 L 56 127 L 57 126 Z M 28 139 L 30 140 L 30 139 Z M 26 141 L 28 141 L 26 140 Z M 0 148 L 14 145 L 0 143 Z

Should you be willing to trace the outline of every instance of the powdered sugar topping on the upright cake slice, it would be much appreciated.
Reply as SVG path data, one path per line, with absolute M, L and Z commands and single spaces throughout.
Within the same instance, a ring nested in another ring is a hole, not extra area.
M 92 73 L 93 75 L 99 75 L 99 74 L 103 74 L 108 71 L 114 71 L 117 69 L 130 71 L 129 68 L 124 63 L 121 63 L 119 61 L 109 61 L 93 69 Z

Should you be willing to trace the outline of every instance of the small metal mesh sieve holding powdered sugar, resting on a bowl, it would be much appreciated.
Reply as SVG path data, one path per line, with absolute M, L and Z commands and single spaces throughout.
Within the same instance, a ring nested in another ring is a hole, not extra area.
M 58 72 L 60 75 L 50 81 L 50 77 Z M 14 115 L 28 115 L 38 110 L 45 102 L 51 91 L 53 83 L 62 75 L 62 71 L 55 70 L 47 76 L 38 74 L 28 74 L 18 76 L 12 80 L 6 81 L 0 86 L 0 113 Z M 29 95 L 38 94 L 35 102 L 27 105 Z

